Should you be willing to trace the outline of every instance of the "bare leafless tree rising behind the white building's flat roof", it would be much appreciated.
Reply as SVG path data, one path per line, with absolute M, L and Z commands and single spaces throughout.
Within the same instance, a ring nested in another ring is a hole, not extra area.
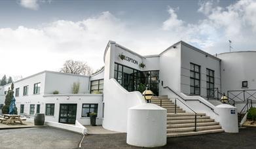
M 92 68 L 86 63 L 82 61 L 74 61 L 69 59 L 65 61 L 60 72 L 62 73 L 73 73 L 73 74 L 82 74 L 82 75 L 90 75 L 92 74 Z

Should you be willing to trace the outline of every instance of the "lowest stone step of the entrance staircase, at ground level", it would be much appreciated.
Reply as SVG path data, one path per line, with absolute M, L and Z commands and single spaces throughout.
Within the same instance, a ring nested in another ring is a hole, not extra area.
M 204 135 L 208 133 L 221 133 L 224 132 L 223 129 L 213 129 L 213 130 L 205 130 L 205 131 L 191 131 L 185 133 L 167 133 L 167 137 L 183 137 L 183 136 L 191 136 L 191 135 Z

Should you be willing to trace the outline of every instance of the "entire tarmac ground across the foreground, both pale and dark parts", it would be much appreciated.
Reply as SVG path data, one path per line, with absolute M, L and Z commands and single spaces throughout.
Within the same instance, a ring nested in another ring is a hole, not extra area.
M 160 148 L 211 149 L 256 148 L 256 127 L 240 133 L 213 133 L 191 137 L 168 138 Z M 82 135 L 53 127 L 0 130 L 0 148 L 79 148 Z M 126 144 L 126 133 L 86 135 L 81 148 L 139 148 Z

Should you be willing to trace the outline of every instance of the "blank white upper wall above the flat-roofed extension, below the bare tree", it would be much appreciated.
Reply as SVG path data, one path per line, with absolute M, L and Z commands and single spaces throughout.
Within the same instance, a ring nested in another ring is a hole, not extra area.
M 74 82 L 80 83 L 79 93 L 90 93 L 89 76 L 46 71 L 44 93 L 52 94 L 55 90 L 60 94 L 72 93 L 71 88 Z

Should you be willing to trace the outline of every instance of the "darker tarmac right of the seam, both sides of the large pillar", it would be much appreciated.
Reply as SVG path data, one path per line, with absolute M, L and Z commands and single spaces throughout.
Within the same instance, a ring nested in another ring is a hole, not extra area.
M 256 148 L 256 127 L 240 129 L 240 133 L 213 133 L 191 137 L 168 138 L 161 148 L 217 149 L 217 148 Z M 126 144 L 126 133 L 88 135 L 82 148 L 137 148 Z

